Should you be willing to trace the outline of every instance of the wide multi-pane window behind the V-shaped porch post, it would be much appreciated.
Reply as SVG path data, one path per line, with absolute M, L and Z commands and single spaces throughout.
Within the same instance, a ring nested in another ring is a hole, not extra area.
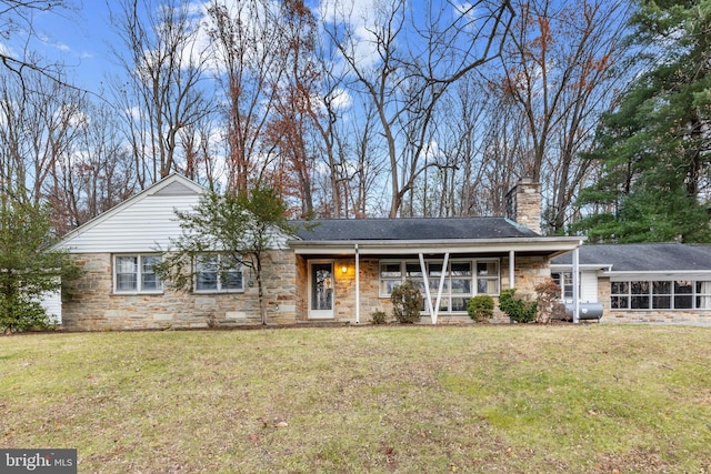
M 467 302 L 477 293 L 499 294 L 499 261 L 498 260 L 452 260 L 443 268 L 442 261 L 424 262 L 432 303 L 437 301 L 440 279 L 444 275 L 441 312 L 467 312 Z M 474 274 L 475 270 L 475 274 Z M 413 261 L 381 261 L 380 262 L 380 296 L 388 297 L 392 289 L 410 280 L 418 284 L 422 293 L 422 310 L 424 311 L 424 275 L 420 262 Z

